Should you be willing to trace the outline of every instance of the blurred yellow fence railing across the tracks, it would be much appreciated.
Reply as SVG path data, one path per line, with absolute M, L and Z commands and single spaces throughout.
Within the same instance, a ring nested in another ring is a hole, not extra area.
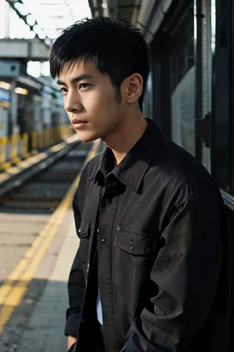
M 60 125 L 42 131 L 0 137 L 0 170 L 48 148 L 74 133 L 71 125 Z

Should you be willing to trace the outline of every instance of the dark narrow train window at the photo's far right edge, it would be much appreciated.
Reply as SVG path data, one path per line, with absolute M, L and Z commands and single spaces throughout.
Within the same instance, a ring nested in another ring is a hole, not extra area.
M 212 0 L 211 2 L 211 49 L 213 58 L 213 94 L 211 120 L 211 173 L 218 186 L 231 193 L 231 116 L 233 101 L 231 58 L 233 40 L 231 40 L 232 1 Z M 233 21 L 232 21 L 233 22 Z M 218 35 L 216 35 L 216 33 Z

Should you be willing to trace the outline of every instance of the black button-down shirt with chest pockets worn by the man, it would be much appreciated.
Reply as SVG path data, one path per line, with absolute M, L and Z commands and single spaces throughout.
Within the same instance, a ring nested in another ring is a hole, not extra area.
M 97 347 L 99 282 L 107 352 L 227 351 L 222 197 L 206 169 L 148 122 L 117 167 L 107 148 L 81 175 L 65 333 L 78 336 L 78 352 Z

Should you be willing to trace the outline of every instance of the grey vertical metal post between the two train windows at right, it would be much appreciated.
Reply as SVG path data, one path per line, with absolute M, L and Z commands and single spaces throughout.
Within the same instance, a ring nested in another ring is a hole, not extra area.
M 211 172 L 212 51 L 211 0 L 196 0 L 196 158 Z

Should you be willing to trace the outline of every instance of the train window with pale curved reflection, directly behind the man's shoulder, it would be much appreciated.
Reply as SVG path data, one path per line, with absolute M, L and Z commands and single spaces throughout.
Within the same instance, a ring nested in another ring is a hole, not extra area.
M 171 138 L 195 155 L 194 6 L 190 1 L 171 26 Z

